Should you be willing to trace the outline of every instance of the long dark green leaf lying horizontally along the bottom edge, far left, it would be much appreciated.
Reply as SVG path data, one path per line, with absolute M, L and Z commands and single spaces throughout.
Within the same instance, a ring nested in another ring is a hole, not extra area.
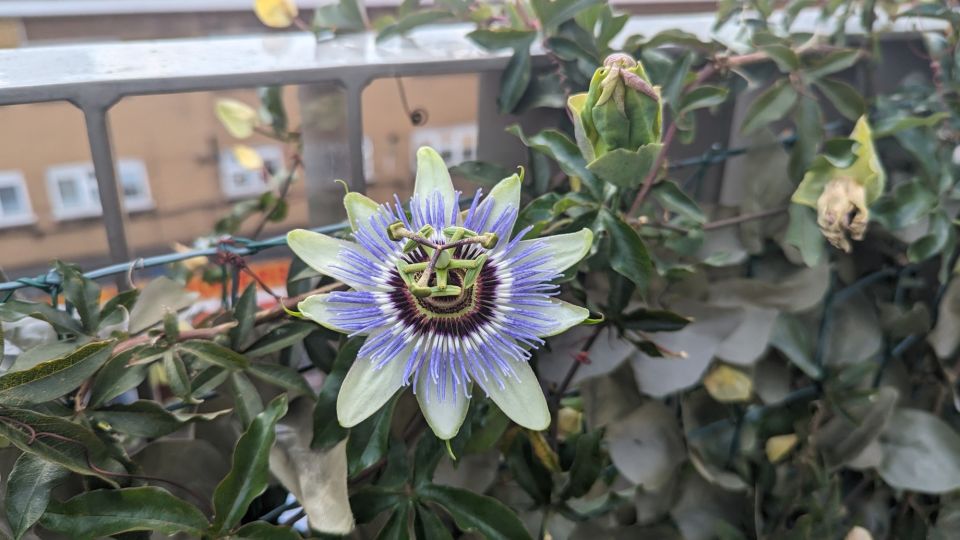
M 195 506 L 158 487 L 100 489 L 51 504 L 40 524 L 86 540 L 132 531 L 203 535 L 207 520 Z

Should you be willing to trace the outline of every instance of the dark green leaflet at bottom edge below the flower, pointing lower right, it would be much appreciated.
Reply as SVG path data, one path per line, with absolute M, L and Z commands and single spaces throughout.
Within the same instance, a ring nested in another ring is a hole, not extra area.
M 420 486 L 417 494 L 446 510 L 462 531 L 477 532 L 489 540 L 531 538 L 516 514 L 492 497 L 435 484 Z

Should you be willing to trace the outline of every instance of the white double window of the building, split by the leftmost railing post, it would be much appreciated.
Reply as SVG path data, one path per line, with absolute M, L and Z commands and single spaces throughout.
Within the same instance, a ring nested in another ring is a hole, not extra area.
M 153 208 L 147 167 L 139 159 L 117 161 L 117 180 L 128 212 Z M 47 189 L 53 217 L 60 220 L 95 217 L 100 208 L 100 189 L 91 163 L 68 163 L 47 169 Z

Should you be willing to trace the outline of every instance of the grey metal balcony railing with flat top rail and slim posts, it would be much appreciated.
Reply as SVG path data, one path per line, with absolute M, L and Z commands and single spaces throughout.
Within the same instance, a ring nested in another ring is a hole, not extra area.
M 713 20 L 712 13 L 633 17 L 622 35 L 680 28 L 709 38 Z M 922 24 L 897 21 L 892 29 L 912 33 L 937 26 L 929 21 Z M 793 29 L 816 31 L 825 25 L 829 21 L 818 20 L 817 12 L 810 10 L 798 17 Z M 384 77 L 502 70 L 509 51 L 477 47 L 466 38 L 471 29 L 469 25 L 425 28 L 380 44 L 369 33 L 320 43 L 306 33 L 284 33 L 0 50 L 0 105 L 67 101 L 82 111 L 110 257 L 120 263 L 129 260 L 130 253 L 108 119 L 118 101 L 128 96 L 266 85 L 338 85 L 345 95 L 346 176 L 351 189 L 362 192 L 364 87 Z M 849 33 L 857 30 L 848 28 Z M 547 61 L 542 51 L 535 48 L 533 54 L 535 62 Z M 481 134 L 488 121 L 478 118 Z

